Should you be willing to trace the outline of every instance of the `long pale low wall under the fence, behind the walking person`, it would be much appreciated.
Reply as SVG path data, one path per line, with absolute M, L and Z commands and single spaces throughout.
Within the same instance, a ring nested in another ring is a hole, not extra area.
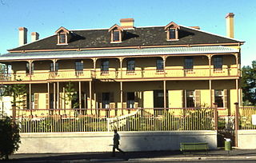
M 114 133 L 21 133 L 17 153 L 110 152 Z M 124 151 L 178 150 L 180 142 L 208 142 L 217 149 L 216 131 L 119 132 Z

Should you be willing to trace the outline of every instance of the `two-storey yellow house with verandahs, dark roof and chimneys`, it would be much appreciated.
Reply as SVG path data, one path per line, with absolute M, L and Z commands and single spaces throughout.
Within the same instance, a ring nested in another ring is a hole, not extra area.
M 234 112 L 242 103 L 240 46 L 234 14 L 228 37 L 198 26 L 135 27 L 133 18 L 109 29 L 67 30 L 26 43 L 0 57 L 2 85 L 25 84 L 19 109 L 98 109 L 114 117 L 138 108 L 213 107 Z M 32 113 L 32 112 L 31 112 Z M 91 112 L 93 113 L 93 112 Z M 43 113 L 42 113 L 43 114 Z

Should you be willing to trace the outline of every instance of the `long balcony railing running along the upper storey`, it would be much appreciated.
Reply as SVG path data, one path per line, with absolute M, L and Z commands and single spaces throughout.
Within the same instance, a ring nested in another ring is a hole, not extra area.
M 207 78 L 207 77 L 230 77 L 238 76 L 240 71 L 236 67 L 224 68 L 222 70 L 215 70 L 209 68 L 195 68 L 191 70 L 186 69 L 145 69 L 145 70 L 58 70 L 58 72 L 46 72 L 37 70 L 33 74 L 26 73 L 12 73 L 0 74 L 0 81 L 37 81 L 37 80 L 66 80 L 66 79 L 140 79 L 140 78 Z

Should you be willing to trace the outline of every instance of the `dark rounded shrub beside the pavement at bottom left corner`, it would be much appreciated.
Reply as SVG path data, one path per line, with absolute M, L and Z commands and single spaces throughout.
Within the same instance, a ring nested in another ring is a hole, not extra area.
M 20 143 L 18 125 L 10 117 L 0 119 L 0 158 L 9 159 L 9 155 L 18 150 Z

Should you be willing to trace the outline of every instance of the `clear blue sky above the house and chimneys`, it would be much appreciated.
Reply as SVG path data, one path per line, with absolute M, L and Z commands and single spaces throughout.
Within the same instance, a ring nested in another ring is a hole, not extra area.
M 134 18 L 134 26 L 200 26 L 226 36 L 226 14 L 234 13 L 234 38 L 244 41 L 242 66 L 256 60 L 255 0 L 0 0 L 0 54 L 18 47 L 18 27 L 53 35 L 68 30 L 102 29 Z

